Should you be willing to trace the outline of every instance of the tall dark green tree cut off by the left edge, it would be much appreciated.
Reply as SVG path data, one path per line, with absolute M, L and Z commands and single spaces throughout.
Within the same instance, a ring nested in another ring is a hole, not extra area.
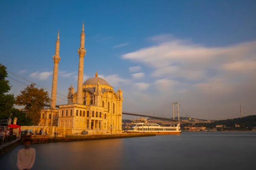
M 6 67 L 0 63 L 0 119 L 8 118 L 15 103 L 14 95 L 6 94 L 12 87 L 6 77 Z

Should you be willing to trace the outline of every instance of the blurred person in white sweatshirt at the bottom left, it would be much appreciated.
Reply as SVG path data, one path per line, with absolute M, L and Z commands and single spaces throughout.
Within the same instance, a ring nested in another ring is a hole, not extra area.
M 35 163 L 35 149 L 30 147 L 30 139 L 24 139 L 24 148 L 17 154 L 17 167 L 19 170 L 30 170 Z

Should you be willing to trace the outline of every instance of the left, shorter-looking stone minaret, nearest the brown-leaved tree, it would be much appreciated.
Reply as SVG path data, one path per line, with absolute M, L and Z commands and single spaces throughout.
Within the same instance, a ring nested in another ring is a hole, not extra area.
M 54 67 L 53 67 L 53 75 L 52 75 L 52 96 L 51 96 L 51 107 L 56 107 L 56 93 L 57 93 L 57 79 L 58 79 L 58 62 L 61 60 L 61 57 L 59 56 L 60 52 L 60 34 L 58 31 L 57 40 L 55 42 L 55 55 L 52 56 L 52 59 L 54 61 Z

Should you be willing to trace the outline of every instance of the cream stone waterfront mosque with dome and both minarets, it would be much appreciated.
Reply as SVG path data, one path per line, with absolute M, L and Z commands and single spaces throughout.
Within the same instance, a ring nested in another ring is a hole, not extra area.
M 52 95 L 49 109 L 41 111 L 39 125 L 72 128 L 72 134 L 81 134 L 86 131 L 88 134 L 122 133 L 122 91 L 119 88 L 116 92 L 105 80 L 98 77 L 91 77 L 83 82 L 84 74 L 84 23 L 80 35 L 79 71 L 77 91 L 71 84 L 68 88 L 67 104 L 59 105 L 56 108 L 56 93 L 58 79 L 59 56 L 59 32 L 55 42 L 55 55 Z

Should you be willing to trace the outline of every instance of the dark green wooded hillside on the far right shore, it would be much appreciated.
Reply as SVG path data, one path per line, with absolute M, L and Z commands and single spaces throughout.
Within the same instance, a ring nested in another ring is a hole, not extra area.
M 240 125 L 240 128 L 236 128 L 236 129 L 246 129 L 246 127 L 251 129 L 252 127 L 256 127 L 256 115 L 245 116 L 245 117 L 236 118 L 236 119 L 217 120 L 212 123 L 196 123 L 195 126 L 215 128 L 216 125 L 226 125 L 226 127 L 235 128 L 235 124 Z

